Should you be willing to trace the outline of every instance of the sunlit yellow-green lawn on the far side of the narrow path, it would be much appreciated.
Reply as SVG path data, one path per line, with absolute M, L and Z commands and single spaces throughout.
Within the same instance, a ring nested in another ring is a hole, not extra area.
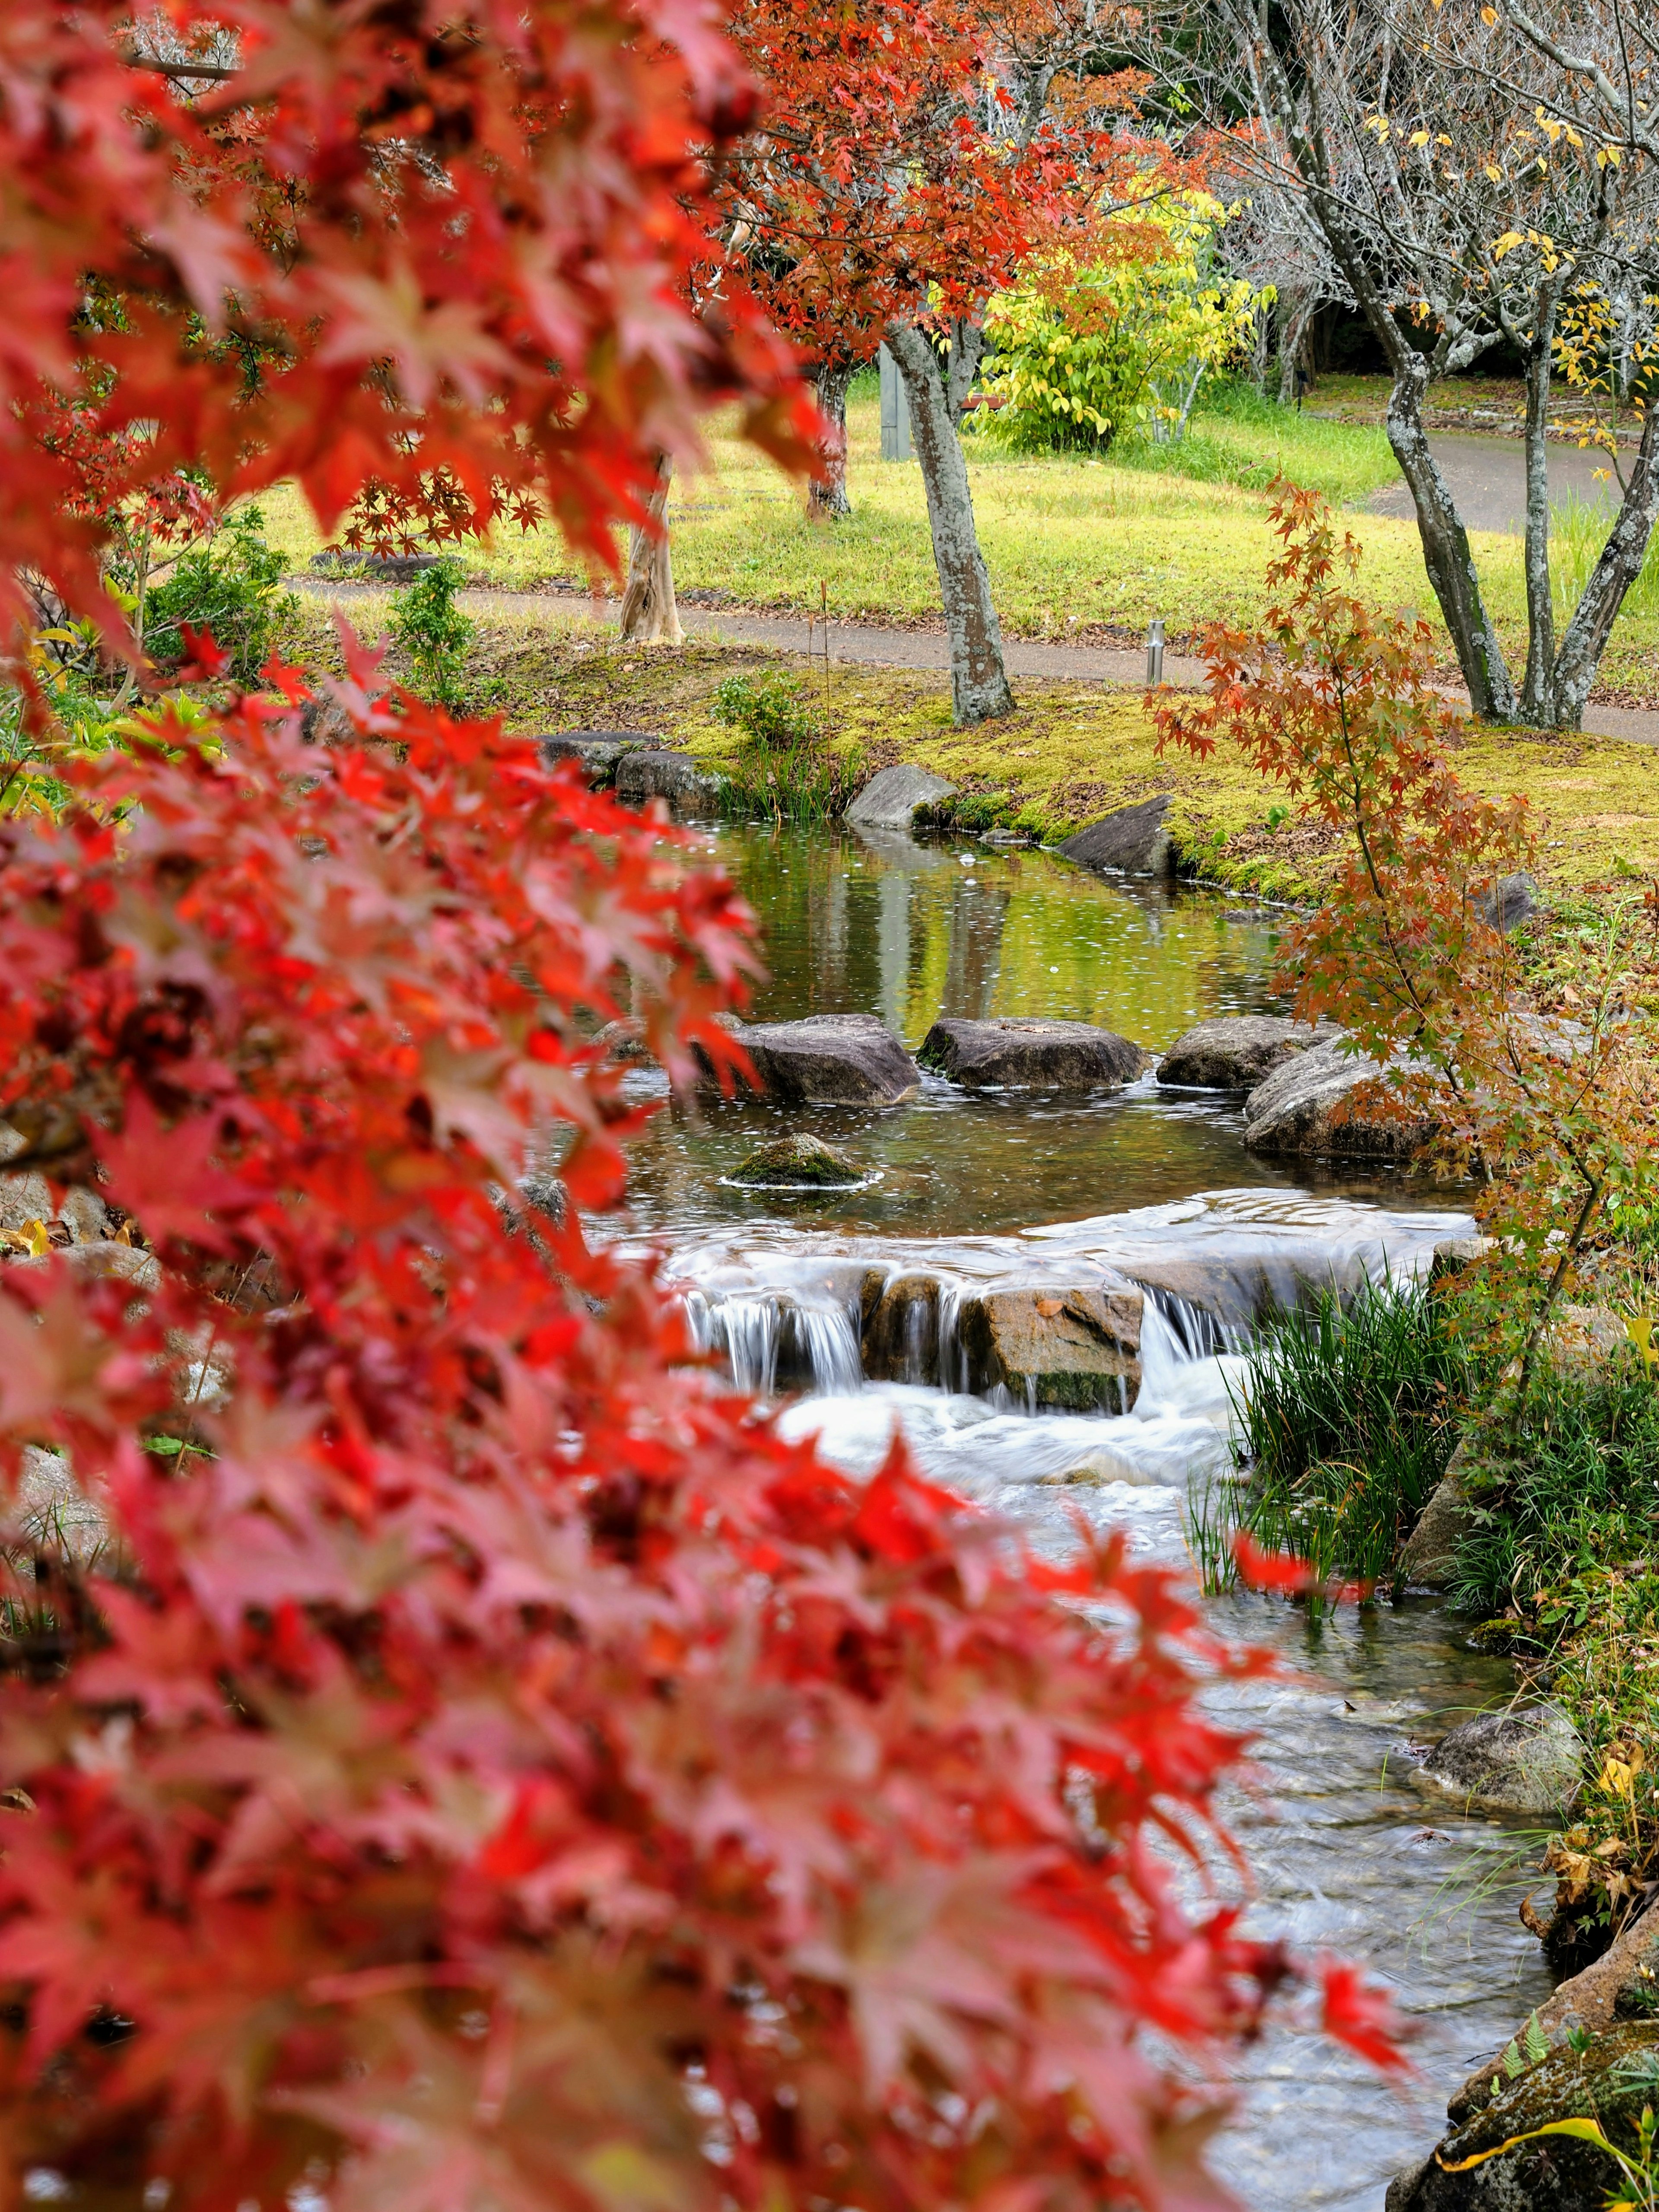
M 710 467 L 681 480 L 670 504 L 675 575 L 717 604 L 807 613 L 821 586 L 836 619 L 936 622 L 938 577 L 920 471 L 880 460 L 874 385 L 847 409 L 852 518 L 810 522 L 796 484 L 726 427 Z M 1011 637 L 1144 633 L 1161 615 L 1183 644 L 1206 622 L 1252 622 L 1272 551 L 1267 482 L 1279 473 L 1349 507 L 1365 546 L 1365 591 L 1378 606 L 1420 606 L 1438 622 L 1416 526 L 1365 513 L 1394 480 L 1380 429 L 1296 416 L 1221 389 L 1179 447 L 1135 445 L 1108 456 L 1029 458 L 971 438 L 969 473 L 980 542 Z M 319 535 L 299 493 L 263 502 L 270 535 L 303 564 Z M 1520 542 L 1478 538 L 1475 551 L 1511 653 L 1524 635 Z M 553 531 L 504 535 L 471 555 L 498 586 L 586 582 Z M 1604 664 L 1613 695 L 1659 697 L 1659 613 L 1626 615 Z

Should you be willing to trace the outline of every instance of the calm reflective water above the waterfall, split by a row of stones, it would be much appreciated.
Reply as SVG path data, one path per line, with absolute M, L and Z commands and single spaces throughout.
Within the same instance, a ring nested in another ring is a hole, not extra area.
M 1214 891 L 1104 883 L 1044 852 L 898 834 L 757 830 L 712 843 L 765 929 L 761 1020 L 876 1013 L 914 1051 L 940 1015 L 1057 1015 L 1161 1051 L 1217 1013 L 1290 1011 L 1272 973 L 1281 922 Z M 783 1128 L 843 1146 L 876 1179 L 814 1199 L 721 1183 Z M 670 1239 L 768 1217 L 949 1234 L 1237 1186 L 1310 1186 L 1305 1166 L 1245 1150 L 1239 1099 L 1166 1091 L 1152 1075 L 1082 1102 L 925 1077 L 918 1097 L 885 1108 L 675 1106 L 635 1152 L 628 1223 Z M 1374 1170 L 1340 1188 L 1391 1203 L 1398 1179 Z

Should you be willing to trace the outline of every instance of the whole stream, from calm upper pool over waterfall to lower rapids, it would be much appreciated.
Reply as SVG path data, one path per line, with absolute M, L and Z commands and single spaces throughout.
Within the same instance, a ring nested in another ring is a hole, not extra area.
M 909 1046 L 936 1015 L 1062 1015 L 1155 1051 L 1217 1013 L 1276 1013 L 1276 922 L 1217 894 L 1106 885 L 1029 849 L 726 830 L 714 849 L 765 929 L 761 1018 L 878 1013 Z M 639 1071 L 648 1093 L 659 1077 Z M 810 1128 L 865 1168 L 858 1190 L 723 1181 L 761 1139 Z M 664 1243 L 701 1340 L 785 1402 L 787 1433 L 872 1469 L 902 1427 L 918 1464 L 1064 1546 L 1071 1515 L 1188 1564 L 1183 1504 L 1228 1467 L 1230 1383 L 1263 1296 L 1427 1267 L 1467 1228 L 1458 1192 L 1405 1175 L 1310 1179 L 1243 1148 L 1239 1099 L 1148 1075 L 1088 1099 L 969 1095 L 925 1077 L 887 1108 L 672 1106 L 635 1152 L 613 1232 Z M 872 1276 L 938 1285 L 905 1380 L 860 1374 Z M 1148 1287 L 1133 1411 L 1053 1413 L 967 1396 L 964 1294 L 995 1283 Z M 1551 1989 L 1515 1905 L 1535 1860 L 1520 1827 L 1467 1818 L 1413 1785 L 1411 1745 L 1500 1701 L 1509 1668 L 1436 1601 L 1340 1608 L 1312 1626 L 1276 1599 L 1210 1601 L 1217 1628 L 1287 1663 L 1210 1705 L 1256 1739 L 1225 1807 L 1252 1867 L 1250 1927 L 1303 1955 L 1363 1960 L 1413 2015 L 1420 2081 L 1383 2084 L 1292 2022 L 1237 2068 L 1212 2150 L 1261 2212 L 1380 2212 L 1389 2177 L 1440 2135 L 1449 2090 Z

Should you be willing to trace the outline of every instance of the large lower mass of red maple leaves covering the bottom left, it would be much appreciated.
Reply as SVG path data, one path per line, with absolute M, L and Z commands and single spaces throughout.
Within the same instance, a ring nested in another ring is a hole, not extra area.
M 730 1055 L 748 916 L 354 675 L 349 739 L 279 672 L 0 830 L 9 1166 L 148 1241 L 0 1279 L 7 1473 L 58 1447 L 111 1524 L 11 1520 L 9 2181 L 1214 2201 L 1219 2099 L 1144 2035 L 1219 2055 L 1285 1973 L 1170 1867 L 1241 1754 L 1199 1681 L 1259 1661 L 1121 1544 L 1037 1566 L 690 1367 L 577 1225 L 641 1113 L 591 1031 Z

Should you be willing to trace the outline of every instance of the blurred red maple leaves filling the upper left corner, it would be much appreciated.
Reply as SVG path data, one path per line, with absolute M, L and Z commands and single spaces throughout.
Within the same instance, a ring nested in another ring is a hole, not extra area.
M 686 305 L 754 106 L 703 0 L 7 0 L 0 630 L 18 564 L 108 617 L 91 509 L 177 469 L 299 480 L 325 531 L 365 484 L 440 529 L 551 511 L 613 560 L 710 405 L 799 460 L 743 288 Z

